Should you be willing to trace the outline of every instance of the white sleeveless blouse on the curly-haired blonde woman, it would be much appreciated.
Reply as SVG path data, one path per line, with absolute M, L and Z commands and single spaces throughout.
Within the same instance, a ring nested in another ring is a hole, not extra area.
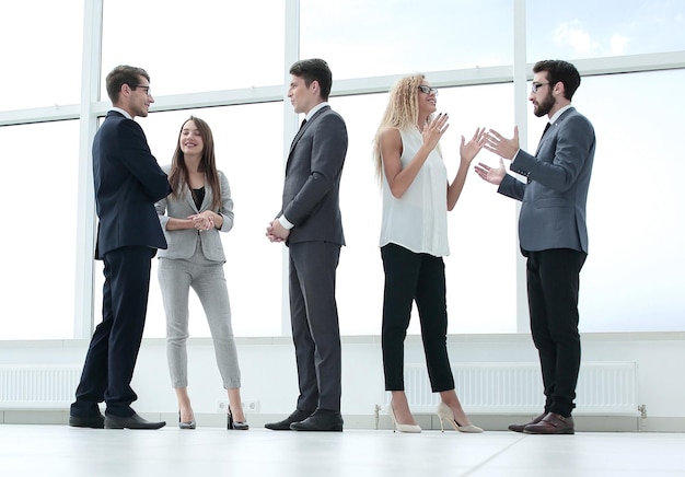
M 406 167 L 423 143 L 418 129 L 399 131 L 402 167 Z M 393 243 L 414 253 L 437 257 L 450 255 L 448 243 L 448 170 L 432 150 L 416 178 L 398 199 L 383 173 L 383 217 L 380 246 Z

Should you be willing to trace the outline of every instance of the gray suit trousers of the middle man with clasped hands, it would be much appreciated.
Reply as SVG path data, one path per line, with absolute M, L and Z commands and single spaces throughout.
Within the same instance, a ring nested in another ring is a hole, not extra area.
M 289 244 L 290 322 L 295 346 L 298 409 L 340 410 L 341 354 L 335 300 L 340 245 Z

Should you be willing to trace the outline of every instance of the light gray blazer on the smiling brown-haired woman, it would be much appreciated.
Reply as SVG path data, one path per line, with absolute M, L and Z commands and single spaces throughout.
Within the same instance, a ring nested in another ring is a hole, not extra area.
M 171 172 L 171 165 L 165 165 L 162 170 L 169 174 Z M 218 172 L 219 185 L 221 187 L 221 207 L 212 210 L 223 217 L 221 232 L 228 232 L 233 229 L 233 200 L 231 199 L 229 179 L 221 171 Z M 160 251 L 158 254 L 160 258 L 190 258 L 195 253 L 195 247 L 199 237 L 202 243 L 202 253 L 208 260 L 225 261 L 223 245 L 221 244 L 221 237 L 219 236 L 218 229 L 211 229 L 201 233 L 195 229 L 166 230 L 166 222 L 169 222 L 171 217 L 175 219 L 187 219 L 189 216 L 210 209 L 209 206 L 214 191 L 211 187 L 206 185 L 205 199 L 202 200 L 202 205 L 199 210 L 195 206 L 193 195 L 188 189 L 186 189 L 184 197 L 181 200 L 175 200 L 171 195 L 169 195 L 154 205 L 162 230 L 164 231 L 164 236 L 166 237 L 166 243 L 169 244 L 169 247 L 165 251 Z

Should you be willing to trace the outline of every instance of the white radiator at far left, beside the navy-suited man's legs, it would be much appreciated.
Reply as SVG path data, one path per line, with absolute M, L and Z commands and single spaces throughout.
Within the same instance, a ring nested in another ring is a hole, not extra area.
M 69 407 L 80 377 L 81 367 L 1 365 L 0 409 Z

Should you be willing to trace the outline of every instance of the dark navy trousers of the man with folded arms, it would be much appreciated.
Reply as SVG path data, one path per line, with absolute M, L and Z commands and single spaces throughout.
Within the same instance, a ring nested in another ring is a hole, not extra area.
M 91 339 L 72 416 L 98 412 L 97 403 L 107 404 L 106 414 L 131 416 L 130 404 L 138 398 L 130 382 L 142 340 L 148 310 L 150 247 L 124 247 L 104 256 L 103 321 Z

